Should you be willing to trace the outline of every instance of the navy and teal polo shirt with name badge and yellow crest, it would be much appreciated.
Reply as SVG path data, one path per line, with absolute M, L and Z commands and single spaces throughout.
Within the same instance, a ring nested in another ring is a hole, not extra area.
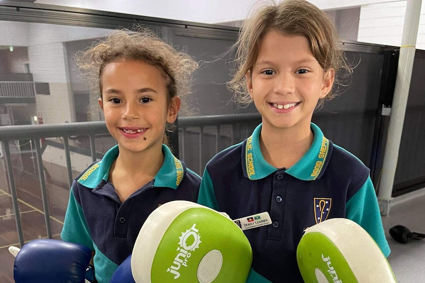
M 275 168 L 261 154 L 261 126 L 208 162 L 198 197 L 198 203 L 231 219 L 269 213 L 271 225 L 244 231 L 253 250 L 251 273 L 258 276 L 251 282 L 302 283 L 296 249 L 303 231 L 330 218 L 354 220 L 388 256 L 369 169 L 313 123 L 307 153 L 288 169 Z

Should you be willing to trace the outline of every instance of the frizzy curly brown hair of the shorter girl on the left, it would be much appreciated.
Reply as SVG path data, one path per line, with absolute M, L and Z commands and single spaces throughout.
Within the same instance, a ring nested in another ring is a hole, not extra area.
M 166 84 L 168 101 L 174 96 L 183 100 L 190 94 L 192 76 L 198 67 L 187 53 L 178 52 L 162 41 L 152 31 L 137 27 L 133 31 L 117 30 L 105 39 L 76 55 L 76 64 L 88 79 L 90 91 L 102 99 L 102 74 L 108 63 L 121 60 L 140 61 L 150 64 L 160 71 Z M 182 103 L 182 111 L 185 111 Z M 167 124 L 166 131 L 174 127 Z M 164 143 L 168 143 L 164 133 Z

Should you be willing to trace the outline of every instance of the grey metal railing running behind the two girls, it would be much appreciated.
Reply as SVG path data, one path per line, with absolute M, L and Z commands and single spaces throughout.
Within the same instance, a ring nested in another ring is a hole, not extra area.
M 228 147 L 245 139 L 251 133 L 253 127 L 258 125 L 260 121 L 261 118 L 258 114 L 179 118 L 179 158 L 183 161 L 187 159 L 188 162 L 198 165 L 199 167 L 196 171 L 198 171 L 198 173 L 202 173 L 203 167 L 210 157 L 215 155 L 221 148 Z M 223 128 L 225 128 L 225 130 L 223 130 Z M 99 136 L 104 136 L 105 134 L 108 134 L 105 122 L 0 126 L 0 141 L 7 169 L 7 177 L 9 180 L 9 189 L 15 214 L 16 230 L 21 247 L 24 245 L 24 237 L 18 207 L 18 197 L 16 193 L 9 142 L 29 139 L 31 144 L 34 145 L 34 149 L 32 148 L 31 151 L 35 151 L 35 158 L 37 161 L 36 164 L 41 188 L 47 237 L 52 238 L 49 203 L 42 160 L 43 148 L 40 145 L 40 140 L 55 137 L 62 138 L 63 149 L 65 151 L 65 163 L 68 171 L 68 185 L 69 188 L 71 188 L 72 180 L 75 176 L 72 176 L 72 147 L 70 147 L 69 139 L 73 136 L 89 136 L 90 155 L 94 162 L 97 160 L 97 156 L 99 156 L 95 149 L 95 139 Z M 210 142 L 211 140 L 213 140 L 212 143 Z M 198 148 L 197 152 L 193 150 L 194 147 Z

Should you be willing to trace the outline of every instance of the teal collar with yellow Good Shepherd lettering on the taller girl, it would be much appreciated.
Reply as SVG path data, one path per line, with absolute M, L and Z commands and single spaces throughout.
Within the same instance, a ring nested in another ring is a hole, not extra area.
M 260 150 L 260 133 L 262 124 L 258 125 L 252 135 L 245 141 L 245 176 L 250 180 L 259 180 L 276 172 L 278 168 L 273 167 L 264 159 Z M 332 152 L 332 142 L 323 136 L 318 126 L 311 123 L 314 140 L 306 154 L 285 173 L 304 181 L 312 181 L 320 178 L 323 174 L 328 158 Z

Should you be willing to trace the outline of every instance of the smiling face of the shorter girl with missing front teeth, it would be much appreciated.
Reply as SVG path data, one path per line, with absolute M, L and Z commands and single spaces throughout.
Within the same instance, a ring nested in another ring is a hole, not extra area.
M 108 63 L 99 105 L 120 152 L 160 150 L 166 123 L 174 123 L 180 99 L 169 99 L 158 68 L 139 61 Z

